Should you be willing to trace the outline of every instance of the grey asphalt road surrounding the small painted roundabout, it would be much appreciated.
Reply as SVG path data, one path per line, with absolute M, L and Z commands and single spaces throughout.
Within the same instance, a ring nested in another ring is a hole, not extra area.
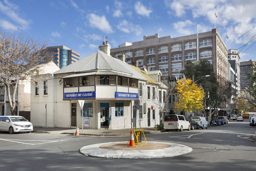
M 78 152 L 86 145 L 129 137 L 0 132 L 0 170 L 255 170 L 256 144 L 249 139 L 255 131 L 245 119 L 208 129 L 146 134 L 147 141 L 193 148 L 189 154 L 162 159 L 104 159 Z

